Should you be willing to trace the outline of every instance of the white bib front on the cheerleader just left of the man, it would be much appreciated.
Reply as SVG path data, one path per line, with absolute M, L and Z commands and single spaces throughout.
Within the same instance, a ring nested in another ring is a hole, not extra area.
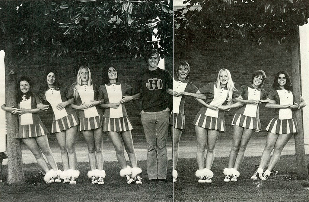
M 116 103 L 116 102 L 121 101 L 122 99 L 121 84 L 120 85 L 112 84 L 110 86 L 105 84 L 105 87 L 106 87 L 109 103 Z M 114 109 L 111 107 L 109 108 L 109 110 L 110 110 L 109 111 L 110 118 L 123 117 L 122 104 L 120 104 L 117 109 Z

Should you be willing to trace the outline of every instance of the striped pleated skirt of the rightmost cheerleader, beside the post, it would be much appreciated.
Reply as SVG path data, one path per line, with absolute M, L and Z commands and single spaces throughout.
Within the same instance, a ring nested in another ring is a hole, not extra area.
M 295 118 L 282 120 L 273 118 L 265 130 L 273 134 L 291 134 L 298 132 L 298 127 Z

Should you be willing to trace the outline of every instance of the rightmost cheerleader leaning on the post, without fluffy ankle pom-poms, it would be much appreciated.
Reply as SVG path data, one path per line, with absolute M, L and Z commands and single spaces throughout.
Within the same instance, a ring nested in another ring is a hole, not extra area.
M 298 132 L 294 111 L 307 105 L 303 97 L 300 97 L 301 102 L 299 104 L 294 102 L 290 76 L 285 71 L 276 74 L 273 89 L 269 91 L 267 99 L 269 103 L 265 107 L 275 109 L 275 111 L 272 120 L 266 127 L 266 131 L 268 131 L 266 145 L 260 159 L 259 168 L 251 177 L 253 180 L 267 180 L 271 171 L 279 162 L 284 146 L 293 133 Z M 273 155 L 264 171 L 272 151 Z

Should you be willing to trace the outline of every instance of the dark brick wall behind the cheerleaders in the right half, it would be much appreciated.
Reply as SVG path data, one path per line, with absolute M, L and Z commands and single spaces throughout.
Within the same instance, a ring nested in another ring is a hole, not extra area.
M 252 45 L 245 40 L 237 43 L 212 42 L 207 44 L 207 48 L 199 46 L 201 44 L 193 44 L 189 53 L 180 52 L 181 50 L 174 51 L 175 68 L 179 61 L 186 60 L 191 68 L 189 80 L 198 88 L 216 81 L 221 68 L 227 68 L 231 72 L 236 88 L 250 82 L 253 72 L 258 69 L 264 70 L 266 73 L 267 79 L 264 86 L 266 91 L 271 89 L 273 78 L 279 70 L 285 70 L 291 76 L 291 53 L 287 51 L 286 45 L 278 45 L 276 41 L 269 40 L 260 46 Z M 187 129 L 183 132 L 182 138 L 195 138 L 192 122 L 201 106 L 192 97 L 187 98 L 184 110 Z M 225 113 L 226 132 L 221 133 L 221 136 L 231 136 L 231 121 L 235 112 L 236 109 L 232 109 Z M 265 104 L 261 104 L 260 120 L 263 130 L 253 135 L 266 135 L 265 128 L 272 113 L 273 109 L 266 109 Z

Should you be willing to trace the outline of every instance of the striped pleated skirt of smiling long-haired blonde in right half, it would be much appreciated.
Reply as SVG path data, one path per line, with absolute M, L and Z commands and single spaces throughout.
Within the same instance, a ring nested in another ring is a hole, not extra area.
M 216 118 L 216 117 L 210 117 L 210 116 L 206 116 L 204 114 L 198 113 L 195 116 L 193 125 L 200 126 L 202 128 L 207 128 L 209 130 L 225 131 L 224 115 L 223 115 L 223 118 L 220 118 L 220 117 Z

